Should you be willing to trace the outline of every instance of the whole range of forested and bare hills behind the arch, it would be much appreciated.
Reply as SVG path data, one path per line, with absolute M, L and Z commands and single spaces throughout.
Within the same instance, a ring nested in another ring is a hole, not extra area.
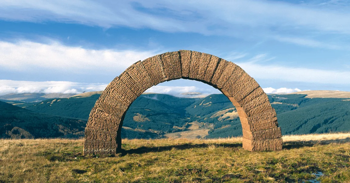
M 101 93 L 87 92 L 40 102 L 4 100 L 16 106 L 0 103 L 0 135 L 7 138 L 83 136 L 90 110 Z M 332 97 L 336 97 L 333 91 L 331 93 Z M 350 131 L 350 97 L 311 98 L 308 97 L 310 95 L 313 95 L 310 91 L 308 95 L 268 95 L 278 114 L 282 134 Z M 33 95 L 35 97 L 37 95 Z M 45 136 L 37 131 L 42 131 Z M 241 135 L 236 108 L 223 94 L 202 98 L 142 94 L 127 111 L 122 131 L 124 138 L 218 138 Z

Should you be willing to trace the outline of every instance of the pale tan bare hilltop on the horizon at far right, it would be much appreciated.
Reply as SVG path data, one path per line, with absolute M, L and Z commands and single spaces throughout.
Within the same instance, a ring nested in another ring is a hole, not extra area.
M 350 92 L 334 90 L 309 90 L 291 94 L 305 94 L 307 98 L 350 98 Z

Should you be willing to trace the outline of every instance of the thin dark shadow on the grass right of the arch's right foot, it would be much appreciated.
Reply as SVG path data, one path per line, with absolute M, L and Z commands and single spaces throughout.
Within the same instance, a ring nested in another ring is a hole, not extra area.
M 350 138 L 336 139 L 336 140 L 306 140 L 306 141 L 288 141 L 283 142 L 282 149 L 294 149 L 301 147 L 313 147 L 314 145 L 327 145 L 327 144 L 344 144 L 350 142 Z

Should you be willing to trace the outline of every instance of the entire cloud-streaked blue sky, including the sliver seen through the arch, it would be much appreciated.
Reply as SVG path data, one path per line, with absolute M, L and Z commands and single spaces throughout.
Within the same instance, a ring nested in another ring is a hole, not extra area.
M 350 1 L 0 2 L 0 94 L 102 90 L 138 60 L 195 50 L 267 93 L 350 91 Z M 175 80 L 148 90 L 217 90 Z

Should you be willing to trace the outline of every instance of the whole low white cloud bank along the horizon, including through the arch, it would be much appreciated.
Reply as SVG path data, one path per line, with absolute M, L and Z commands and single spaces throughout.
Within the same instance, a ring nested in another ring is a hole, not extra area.
M 105 83 L 78 83 L 68 81 L 11 81 L 0 80 L 0 96 L 10 93 L 64 93 L 79 94 L 83 92 L 102 91 L 107 87 Z M 300 92 L 298 88 L 263 88 L 268 94 Z M 200 88 L 195 86 L 153 86 L 147 89 L 147 93 L 161 93 L 178 96 L 185 92 L 200 92 L 202 94 L 220 94 L 221 92 L 213 87 Z

